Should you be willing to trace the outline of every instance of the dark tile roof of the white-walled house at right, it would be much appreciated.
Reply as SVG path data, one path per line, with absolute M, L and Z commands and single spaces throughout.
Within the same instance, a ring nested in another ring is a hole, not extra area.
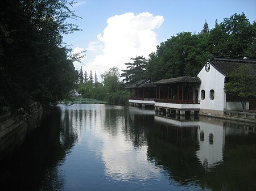
M 221 74 L 228 75 L 242 65 L 250 68 L 251 75 L 256 75 L 256 60 L 243 58 L 209 57 L 208 62 Z

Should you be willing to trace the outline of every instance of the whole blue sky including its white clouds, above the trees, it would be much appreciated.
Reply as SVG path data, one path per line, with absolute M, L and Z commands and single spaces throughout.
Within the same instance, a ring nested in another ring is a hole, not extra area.
M 199 33 L 234 13 L 256 20 L 256 0 L 77 0 L 72 7 L 81 19 L 69 20 L 82 31 L 64 35 L 73 53 L 86 50 L 77 70 L 100 75 L 110 67 L 120 73 L 131 58 L 155 52 L 156 46 L 179 32 Z

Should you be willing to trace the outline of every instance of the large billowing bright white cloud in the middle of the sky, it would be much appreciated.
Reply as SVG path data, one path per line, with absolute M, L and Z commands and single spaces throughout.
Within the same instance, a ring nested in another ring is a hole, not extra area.
M 89 43 L 86 48 L 87 54 L 90 51 L 97 51 L 98 54 L 92 62 L 85 63 L 83 70 L 97 71 L 100 76 L 99 74 L 113 66 L 117 66 L 120 71 L 126 69 L 124 63 L 131 62 L 130 58 L 147 58 L 158 45 L 157 35 L 153 30 L 159 28 L 163 21 L 163 16 L 154 16 L 149 12 L 137 15 L 127 12 L 110 17 L 103 35 L 98 34 L 98 41 Z

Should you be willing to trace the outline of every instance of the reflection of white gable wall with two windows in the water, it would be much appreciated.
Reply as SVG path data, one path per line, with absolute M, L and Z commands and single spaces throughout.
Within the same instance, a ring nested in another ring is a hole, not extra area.
M 200 118 L 200 128 L 197 133 L 199 135 L 199 150 L 196 151 L 197 158 L 205 168 L 213 167 L 222 162 L 223 147 L 225 145 L 225 129 L 222 121 L 204 120 Z

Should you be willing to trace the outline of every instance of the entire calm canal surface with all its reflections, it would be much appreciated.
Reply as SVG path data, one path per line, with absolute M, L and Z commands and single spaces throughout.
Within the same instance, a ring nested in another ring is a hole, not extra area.
M 0 169 L 0 190 L 256 190 L 256 132 L 216 118 L 58 105 Z

